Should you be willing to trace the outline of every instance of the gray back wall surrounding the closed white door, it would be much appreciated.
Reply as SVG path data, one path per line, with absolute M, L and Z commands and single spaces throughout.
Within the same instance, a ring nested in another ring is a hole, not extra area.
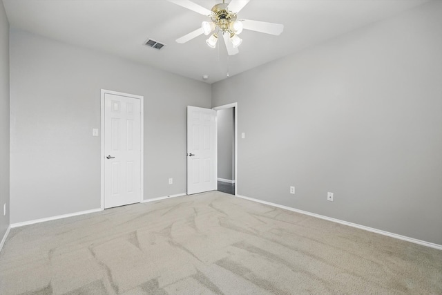
M 209 84 L 21 30 L 10 42 L 11 223 L 100 207 L 102 88 L 144 95 L 144 199 L 186 192 L 186 106 L 210 108 Z

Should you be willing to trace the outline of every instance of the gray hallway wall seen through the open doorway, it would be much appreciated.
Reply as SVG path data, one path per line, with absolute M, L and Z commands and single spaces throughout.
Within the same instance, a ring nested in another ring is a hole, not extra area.
M 233 108 L 218 111 L 218 178 L 235 180 Z

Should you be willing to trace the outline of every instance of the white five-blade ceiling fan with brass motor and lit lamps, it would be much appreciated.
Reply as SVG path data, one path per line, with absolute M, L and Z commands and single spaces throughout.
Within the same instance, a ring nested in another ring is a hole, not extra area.
M 240 35 L 243 29 L 264 32 L 276 36 L 280 35 L 282 30 L 284 30 L 284 25 L 279 23 L 251 21 L 250 19 L 237 20 L 238 12 L 240 12 L 250 0 L 231 0 L 230 3 L 224 3 L 224 0 L 222 0 L 222 3 L 216 4 L 211 10 L 190 0 L 168 1 L 211 18 L 211 21 L 203 21 L 200 28 L 176 39 L 176 41 L 181 44 L 202 34 L 209 35 L 215 31 L 209 39 L 206 40 L 206 44 L 211 48 L 215 48 L 218 37 L 220 37 L 221 34 L 224 39 L 224 44 L 226 44 L 227 53 L 229 55 L 236 55 L 239 53 L 238 46 L 242 43 L 242 39 L 238 37 L 238 35 Z

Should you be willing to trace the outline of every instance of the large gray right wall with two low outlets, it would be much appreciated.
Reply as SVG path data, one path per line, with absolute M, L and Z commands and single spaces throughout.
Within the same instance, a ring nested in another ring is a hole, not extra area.
M 246 133 L 238 193 L 442 245 L 441 15 L 432 1 L 213 84 Z

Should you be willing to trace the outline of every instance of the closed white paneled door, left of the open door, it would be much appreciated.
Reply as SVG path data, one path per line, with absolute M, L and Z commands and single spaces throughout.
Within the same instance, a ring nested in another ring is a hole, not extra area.
M 104 96 L 104 208 L 141 201 L 140 99 Z

